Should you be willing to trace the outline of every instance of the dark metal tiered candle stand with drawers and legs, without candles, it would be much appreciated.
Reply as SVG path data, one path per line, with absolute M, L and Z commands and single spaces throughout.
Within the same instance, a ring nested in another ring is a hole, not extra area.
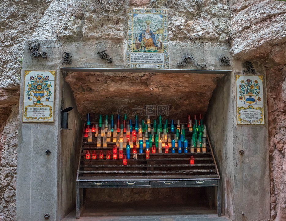
M 169 131 L 170 131 L 170 125 Z M 85 128 L 85 127 L 84 127 Z M 101 134 L 101 128 L 99 128 Z M 168 134 L 175 134 L 168 132 Z M 146 159 L 145 149 L 139 153 L 139 144 L 137 144 L 137 159 L 133 158 L 132 149 L 130 159 L 127 159 L 127 165 L 123 165 L 122 159 L 113 159 L 113 146 L 116 143 L 108 142 L 107 147 L 97 145 L 97 138 L 92 132 L 92 140 L 82 135 L 81 154 L 77 172 L 77 192 L 76 192 L 76 218 L 79 219 L 83 207 L 83 189 L 84 188 L 163 188 L 163 187 L 217 187 L 217 213 L 221 216 L 221 194 L 220 194 L 220 175 L 216 166 L 213 150 L 208 137 L 206 138 L 206 153 L 178 153 L 178 147 L 175 153 L 156 153 L 150 151 L 149 159 Z M 186 131 L 185 139 L 190 141 L 192 132 Z M 130 134 L 130 139 L 132 135 Z M 112 141 L 112 137 L 111 137 Z M 134 145 L 136 143 L 134 142 Z M 98 146 L 98 147 L 97 147 Z M 118 149 L 118 148 L 117 148 Z M 151 149 L 151 147 L 150 147 Z M 87 150 L 90 158 L 86 159 Z M 92 159 L 92 153 L 95 150 L 96 159 Z M 100 159 L 99 153 L 102 151 L 103 159 Z M 110 159 L 106 159 L 107 151 L 110 151 Z M 126 154 L 126 148 L 123 148 L 123 154 Z M 117 156 L 119 153 L 117 152 Z M 190 164 L 190 157 L 194 157 L 194 164 Z

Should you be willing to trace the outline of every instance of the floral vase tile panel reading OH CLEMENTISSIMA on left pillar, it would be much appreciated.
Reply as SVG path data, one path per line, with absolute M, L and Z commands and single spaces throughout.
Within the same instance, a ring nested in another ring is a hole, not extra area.
M 55 71 L 25 71 L 23 122 L 54 122 Z

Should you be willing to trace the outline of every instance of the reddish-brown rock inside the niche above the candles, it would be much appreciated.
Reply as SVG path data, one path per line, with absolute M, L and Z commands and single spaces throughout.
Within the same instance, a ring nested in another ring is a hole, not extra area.
M 68 74 L 66 82 L 73 90 L 82 119 L 86 113 L 119 113 L 122 116 L 127 113 L 137 114 L 140 118 L 145 115 L 145 106 L 155 106 L 156 116 L 165 115 L 158 114 L 159 105 L 163 105 L 168 107 L 166 114 L 169 119 L 182 116 L 181 120 L 186 120 L 188 114 L 206 112 L 209 99 L 222 76 L 73 72 Z M 97 116 L 92 116 L 92 119 L 97 119 Z

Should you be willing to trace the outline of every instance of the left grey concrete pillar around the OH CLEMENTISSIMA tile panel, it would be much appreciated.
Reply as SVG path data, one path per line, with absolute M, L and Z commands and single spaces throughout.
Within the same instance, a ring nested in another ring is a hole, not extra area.
M 39 43 L 42 43 L 38 41 Z M 38 43 L 37 42 L 37 43 Z M 53 42 L 41 44 L 41 49 Z M 51 63 L 54 48 L 47 49 L 47 59 L 31 57 L 25 45 L 19 105 L 16 220 L 46 220 L 44 214 L 55 221 L 57 212 L 57 167 L 59 137 L 59 70 Z M 55 70 L 55 102 L 53 123 L 23 123 L 24 70 Z M 46 150 L 51 150 L 46 155 Z

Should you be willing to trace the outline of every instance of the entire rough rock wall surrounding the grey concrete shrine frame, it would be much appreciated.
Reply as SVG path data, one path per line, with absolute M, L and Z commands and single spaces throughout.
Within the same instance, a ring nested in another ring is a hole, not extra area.
M 167 6 L 170 44 L 174 47 L 224 49 L 230 42 L 235 58 L 259 60 L 267 66 L 271 219 L 286 219 L 285 2 L 115 0 L 107 6 L 91 0 L 69 0 L 67 4 L 63 0 L 3 0 L 0 6 L 0 220 L 15 219 L 17 111 L 24 40 L 54 39 L 63 47 L 65 43 L 97 41 L 103 47 L 123 50 L 128 6 Z

